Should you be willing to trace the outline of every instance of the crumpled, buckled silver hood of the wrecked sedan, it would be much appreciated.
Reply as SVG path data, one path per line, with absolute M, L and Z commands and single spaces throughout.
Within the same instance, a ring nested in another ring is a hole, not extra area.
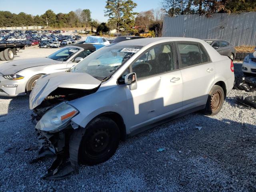
M 58 72 L 42 76 L 30 93 L 29 107 L 34 109 L 42 103 L 56 88 L 73 88 L 91 90 L 97 88 L 101 81 L 87 73 Z

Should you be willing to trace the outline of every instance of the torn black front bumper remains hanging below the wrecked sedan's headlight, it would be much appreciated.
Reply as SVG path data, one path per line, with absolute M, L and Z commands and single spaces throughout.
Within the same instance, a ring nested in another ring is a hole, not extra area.
M 37 162 L 42 158 L 55 157 L 54 162 L 48 168 L 47 174 L 42 178 L 50 180 L 59 180 L 78 174 L 78 151 L 84 128 L 74 130 L 69 124 L 64 130 L 57 133 L 48 133 L 40 130 L 38 132 L 38 158 L 33 159 L 31 163 Z

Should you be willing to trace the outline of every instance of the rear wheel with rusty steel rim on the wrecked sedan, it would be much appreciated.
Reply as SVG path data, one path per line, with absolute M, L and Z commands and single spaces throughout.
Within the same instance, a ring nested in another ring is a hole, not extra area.
M 216 115 L 220 112 L 224 102 L 224 91 L 221 86 L 214 85 L 208 95 L 206 107 L 203 110 L 206 115 Z

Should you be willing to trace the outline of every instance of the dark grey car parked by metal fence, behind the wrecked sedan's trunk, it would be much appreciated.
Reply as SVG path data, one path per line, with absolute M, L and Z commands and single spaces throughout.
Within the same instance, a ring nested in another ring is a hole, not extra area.
M 232 60 L 236 58 L 236 49 L 229 42 L 220 39 L 205 39 L 204 41 L 216 49 L 219 54 L 226 55 Z

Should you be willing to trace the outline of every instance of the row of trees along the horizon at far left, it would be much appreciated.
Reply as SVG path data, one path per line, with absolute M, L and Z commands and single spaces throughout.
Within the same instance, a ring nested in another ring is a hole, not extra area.
M 9 11 L 0 11 L 0 27 L 13 26 L 48 26 L 50 27 L 97 27 L 98 22 L 92 20 L 89 9 L 77 9 L 69 13 L 55 14 L 52 10 L 47 10 L 42 15 L 32 16 L 20 12 L 19 14 Z

